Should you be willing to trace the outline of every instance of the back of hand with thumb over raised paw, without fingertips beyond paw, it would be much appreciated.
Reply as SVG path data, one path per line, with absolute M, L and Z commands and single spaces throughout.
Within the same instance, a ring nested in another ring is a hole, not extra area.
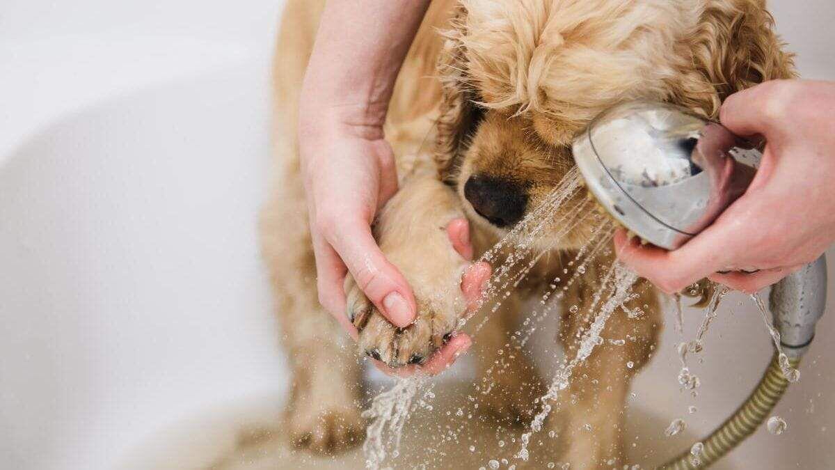
M 311 112 L 312 114 L 312 112 Z M 397 192 L 392 148 L 382 138 L 382 119 L 352 126 L 321 113 L 299 135 L 301 173 L 316 255 L 319 301 L 349 334 L 342 289 L 347 271 L 377 309 L 398 327 L 411 324 L 416 304 L 402 273 L 372 236 L 377 211 Z

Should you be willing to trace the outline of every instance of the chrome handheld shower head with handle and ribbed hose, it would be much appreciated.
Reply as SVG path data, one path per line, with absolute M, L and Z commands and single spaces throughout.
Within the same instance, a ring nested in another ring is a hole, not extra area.
M 751 183 L 762 153 L 724 126 L 677 106 L 636 101 L 615 106 L 574 140 L 574 160 L 590 194 L 642 243 L 676 249 L 708 227 Z M 824 256 L 772 287 L 770 309 L 785 352 L 745 402 L 664 468 L 704 468 L 757 430 L 785 393 L 783 370 L 800 363 L 826 305 Z

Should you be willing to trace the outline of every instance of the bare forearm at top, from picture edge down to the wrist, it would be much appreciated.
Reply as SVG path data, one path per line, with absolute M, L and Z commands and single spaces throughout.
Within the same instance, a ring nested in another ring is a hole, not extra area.
M 301 91 L 305 123 L 379 128 L 429 0 L 330 0 Z

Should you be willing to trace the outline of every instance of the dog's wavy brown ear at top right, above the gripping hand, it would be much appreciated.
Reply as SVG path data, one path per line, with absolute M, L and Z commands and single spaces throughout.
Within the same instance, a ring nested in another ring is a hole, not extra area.
M 680 76 L 678 98 L 714 119 L 727 96 L 796 76 L 793 54 L 783 50 L 765 0 L 708 0 L 681 46 L 691 64 Z

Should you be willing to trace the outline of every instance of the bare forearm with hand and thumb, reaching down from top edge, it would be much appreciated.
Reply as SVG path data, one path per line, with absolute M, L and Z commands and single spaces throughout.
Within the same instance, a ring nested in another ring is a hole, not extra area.
M 406 326 L 416 312 L 412 290 L 382 255 L 370 227 L 397 191 L 382 125 L 397 71 L 428 4 L 326 3 L 298 97 L 319 300 L 355 338 L 357 331 L 343 314 L 342 278 L 348 270 L 392 324 Z

